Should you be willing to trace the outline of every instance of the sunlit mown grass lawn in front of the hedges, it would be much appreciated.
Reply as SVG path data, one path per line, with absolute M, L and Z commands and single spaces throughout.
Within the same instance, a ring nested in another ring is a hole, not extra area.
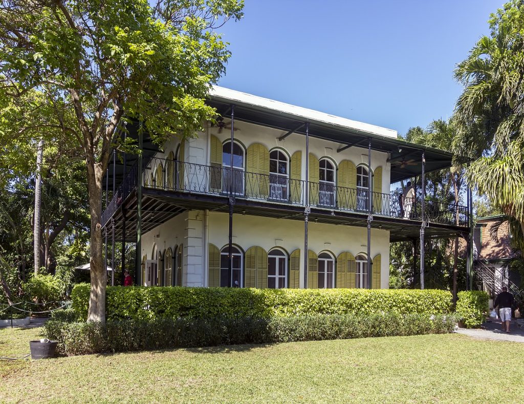
M 0 329 L 0 356 L 40 332 Z M 517 403 L 523 355 L 448 334 L 1 361 L 0 401 Z

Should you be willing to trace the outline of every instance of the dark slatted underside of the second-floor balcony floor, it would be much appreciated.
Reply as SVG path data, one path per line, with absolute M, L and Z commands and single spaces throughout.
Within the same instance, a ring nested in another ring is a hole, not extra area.
M 122 241 L 122 206 L 126 211 L 126 241 L 136 241 L 136 189 L 113 214 L 115 224 L 115 240 Z M 165 223 L 172 217 L 188 210 L 209 209 L 213 212 L 229 212 L 228 197 L 226 195 L 209 195 L 201 193 L 188 193 L 162 189 L 144 188 L 142 195 L 142 233 L 145 234 L 159 224 Z M 304 207 L 301 205 L 272 203 L 266 201 L 236 198 L 234 213 L 275 217 L 280 219 L 304 220 Z M 310 222 L 329 223 L 345 226 L 367 226 L 367 213 L 329 210 L 311 206 Z M 420 220 L 405 220 L 400 217 L 373 215 L 372 228 L 388 230 L 390 242 L 410 241 L 420 237 Z M 234 222 L 233 222 L 234 226 Z M 106 225 L 111 236 L 112 222 Z M 465 226 L 429 223 L 425 228 L 425 237 L 447 238 L 468 233 Z

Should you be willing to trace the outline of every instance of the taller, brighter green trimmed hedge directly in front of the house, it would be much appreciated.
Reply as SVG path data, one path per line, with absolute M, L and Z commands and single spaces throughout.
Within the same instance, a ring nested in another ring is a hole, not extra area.
M 72 307 L 86 319 L 88 284 L 74 287 Z M 106 290 L 106 319 L 272 318 L 312 314 L 374 313 L 424 315 L 450 312 L 452 297 L 444 290 L 394 289 L 249 289 L 188 287 L 122 287 Z

